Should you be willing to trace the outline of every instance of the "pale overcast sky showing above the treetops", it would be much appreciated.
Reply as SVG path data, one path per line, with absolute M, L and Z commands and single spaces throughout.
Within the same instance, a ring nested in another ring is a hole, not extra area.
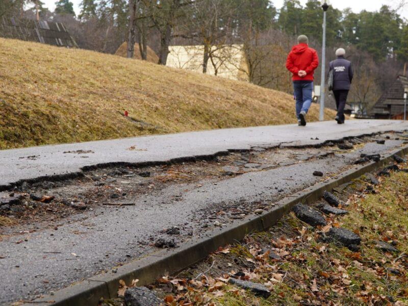
M 1 0 L 0 0 L 1 1 Z M 42 0 L 45 3 L 45 7 L 47 7 L 50 11 L 54 11 L 55 9 L 55 2 L 56 0 Z M 80 13 L 79 5 L 82 0 L 71 0 L 73 3 L 73 8 L 77 15 Z M 280 9 L 284 3 L 284 0 L 272 0 L 273 5 Z M 300 3 L 304 5 L 307 0 L 300 0 Z M 359 13 L 362 10 L 367 11 L 377 11 L 383 4 L 390 5 L 392 8 L 396 8 L 398 3 L 401 0 L 330 0 L 330 4 L 333 7 L 343 10 L 345 8 L 351 8 L 353 12 Z M 398 12 L 401 16 L 408 19 L 408 4 L 405 8 L 401 9 Z

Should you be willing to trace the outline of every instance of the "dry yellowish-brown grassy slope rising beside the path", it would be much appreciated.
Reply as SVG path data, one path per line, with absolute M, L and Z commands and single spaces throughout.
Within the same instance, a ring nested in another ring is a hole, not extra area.
M 0 58 L 2 149 L 295 123 L 290 95 L 243 82 L 3 38 Z M 309 120 L 317 118 L 314 105 Z

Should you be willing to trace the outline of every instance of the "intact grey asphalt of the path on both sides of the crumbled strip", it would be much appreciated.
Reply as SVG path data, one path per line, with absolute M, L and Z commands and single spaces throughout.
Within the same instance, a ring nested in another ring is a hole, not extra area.
M 407 125 L 401 121 L 353 120 L 345 125 L 321 122 L 307 127 L 256 127 L 5 150 L 0 152 L 1 167 L 7 173 L 2 176 L 2 182 L 37 177 L 39 171 L 41 175 L 78 171 L 95 163 L 166 161 L 210 155 L 227 149 L 309 145 L 347 136 L 405 129 Z M 281 190 L 290 195 L 320 180 L 312 175 L 314 170 L 336 173 L 358 158 L 361 152 L 384 154 L 401 144 L 401 140 L 387 140 L 385 145 L 369 143 L 342 158 L 331 156 L 267 171 L 248 172 L 217 185 L 213 182 L 202 182 L 200 188 L 196 184 L 173 185 L 154 194 L 130 199 L 136 202 L 135 206 L 99 207 L 70 216 L 59 224 L 58 230 L 47 227 L 35 233 L 4 237 L 0 241 L 0 304 L 34 298 L 112 269 L 118 263 L 154 254 L 156 248 L 146 241 L 159 237 L 163 228 L 182 228 L 181 237 L 177 238 L 181 245 L 206 235 L 206 231 L 214 226 L 238 224 L 239 220 L 222 218 L 217 220 L 220 224 L 215 224 L 216 221 L 209 216 L 221 207 L 227 210 L 237 201 L 273 201 L 281 195 Z M 146 150 L 129 150 L 131 146 Z M 86 154 L 89 158 L 63 153 L 74 150 L 92 150 L 94 153 Z M 38 158 L 20 158 L 28 156 Z M 7 157 L 9 163 L 6 163 Z M 17 174 L 10 171 L 13 166 L 19 169 Z M 175 195 L 182 197 L 174 200 Z M 209 223 L 208 227 L 203 228 L 203 222 Z

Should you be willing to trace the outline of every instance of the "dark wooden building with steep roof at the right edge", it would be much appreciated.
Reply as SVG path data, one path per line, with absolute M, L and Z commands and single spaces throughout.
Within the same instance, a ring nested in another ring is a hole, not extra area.
M 408 78 L 399 75 L 390 88 L 382 94 L 370 111 L 375 119 L 399 119 L 404 114 L 404 91 L 408 90 Z

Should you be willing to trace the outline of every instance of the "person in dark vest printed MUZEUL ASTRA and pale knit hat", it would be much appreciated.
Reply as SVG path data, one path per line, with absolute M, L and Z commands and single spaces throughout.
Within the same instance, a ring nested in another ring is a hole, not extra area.
M 344 107 L 346 106 L 348 91 L 353 80 L 351 62 L 344 58 L 345 54 L 346 51 L 343 48 L 337 49 L 337 59 L 330 62 L 329 68 L 329 72 L 333 70 L 333 93 L 337 107 L 335 119 L 338 124 L 344 123 Z

